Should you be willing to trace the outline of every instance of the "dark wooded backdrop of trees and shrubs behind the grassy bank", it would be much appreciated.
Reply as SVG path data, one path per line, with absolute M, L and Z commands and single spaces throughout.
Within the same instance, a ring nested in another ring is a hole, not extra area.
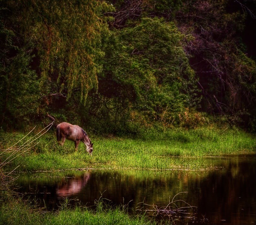
M 256 130 L 255 0 L 2 0 L 0 127 Z

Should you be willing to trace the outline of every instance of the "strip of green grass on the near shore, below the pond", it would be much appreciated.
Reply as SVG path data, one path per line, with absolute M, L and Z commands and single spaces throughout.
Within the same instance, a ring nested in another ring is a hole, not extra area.
M 96 203 L 96 209 L 68 207 L 68 200 L 56 212 L 44 212 L 24 202 L 21 198 L 13 198 L 0 204 L 0 225 L 156 225 L 144 215 L 129 216 L 127 208 Z

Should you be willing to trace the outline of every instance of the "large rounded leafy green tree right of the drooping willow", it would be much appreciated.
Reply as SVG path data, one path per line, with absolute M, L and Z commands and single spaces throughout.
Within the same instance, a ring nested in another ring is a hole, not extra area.
M 126 126 L 125 120 L 138 116 L 160 121 L 195 106 L 196 79 L 182 48 L 186 37 L 174 23 L 143 18 L 134 27 L 111 33 L 98 94 L 86 104 L 100 126 L 109 129 L 110 121 Z

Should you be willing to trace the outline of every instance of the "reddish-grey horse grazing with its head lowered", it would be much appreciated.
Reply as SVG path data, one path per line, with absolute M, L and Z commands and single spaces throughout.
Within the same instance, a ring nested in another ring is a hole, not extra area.
M 78 125 L 72 125 L 70 123 L 60 123 L 57 125 L 57 141 L 61 141 L 63 146 L 66 139 L 75 142 L 75 151 L 77 151 L 80 141 L 86 145 L 86 151 L 92 155 L 92 145 L 93 143 L 88 138 L 87 133 Z

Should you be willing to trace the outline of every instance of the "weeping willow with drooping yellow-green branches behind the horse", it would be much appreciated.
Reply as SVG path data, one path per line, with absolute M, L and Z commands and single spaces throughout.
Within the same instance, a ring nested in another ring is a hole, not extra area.
M 84 102 L 98 87 L 98 58 L 104 56 L 101 39 L 108 33 L 105 11 L 113 7 L 99 0 L 8 0 L 5 24 L 17 33 L 20 44 L 29 45 L 43 90 L 57 81 L 58 91 L 70 98 L 80 90 Z M 52 88 L 51 88 L 52 91 Z

